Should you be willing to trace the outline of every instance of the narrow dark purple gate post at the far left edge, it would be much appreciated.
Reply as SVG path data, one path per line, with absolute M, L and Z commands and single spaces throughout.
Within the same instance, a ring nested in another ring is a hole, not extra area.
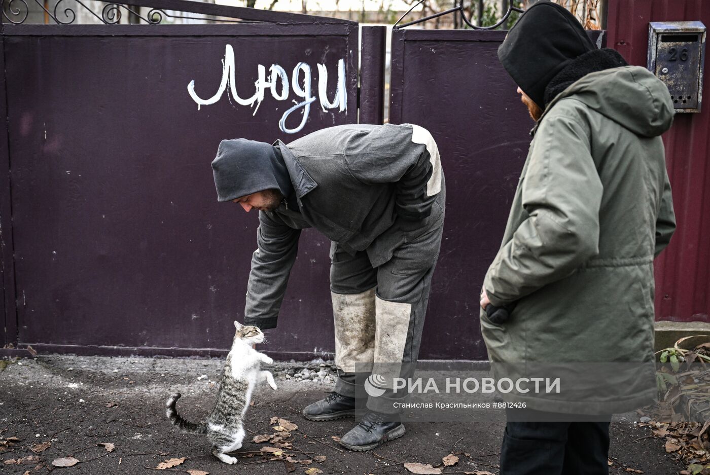
M 3 322 L 0 349 L 8 344 L 16 347 L 18 342 L 4 28 L 0 13 L 0 283 L 2 283 L 0 309 Z

